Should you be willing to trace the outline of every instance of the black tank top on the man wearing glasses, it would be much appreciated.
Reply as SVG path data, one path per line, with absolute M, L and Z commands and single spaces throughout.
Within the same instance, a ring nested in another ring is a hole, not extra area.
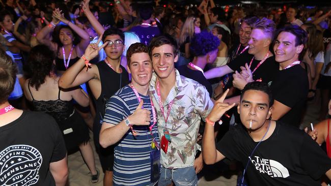
M 130 81 L 129 74 L 122 66 L 120 66 L 122 68 L 122 73 L 115 72 L 104 61 L 100 61 L 96 64 L 96 66 L 99 70 L 101 94 L 97 100 L 95 100 L 94 97 L 93 99 L 96 104 L 97 113 L 95 122 L 99 123 L 104 116 L 105 104 L 107 103 L 108 99 L 111 98 L 117 92 L 117 90 L 127 85 Z

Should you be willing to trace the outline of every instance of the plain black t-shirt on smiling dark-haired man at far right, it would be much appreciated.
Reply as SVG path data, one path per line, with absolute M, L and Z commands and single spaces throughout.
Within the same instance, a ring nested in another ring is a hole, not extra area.
M 300 65 L 285 70 L 278 70 L 277 78 L 271 83 L 274 100 L 291 108 L 279 120 L 295 127 L 300 125 L 300 118 L 308 95 L 308 76 Z M 272 117 L 272 116 L 271 116 Z

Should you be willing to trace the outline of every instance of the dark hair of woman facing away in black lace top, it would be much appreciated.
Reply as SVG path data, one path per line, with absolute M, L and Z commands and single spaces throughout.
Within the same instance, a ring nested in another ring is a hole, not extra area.
M 55 54 L 46 45 L 37 45 L 30 51 L 27 58 L 27 66 L 29 67 L 30 85 L 36 90 L 45 82 L 45 77 L 53 70 Z

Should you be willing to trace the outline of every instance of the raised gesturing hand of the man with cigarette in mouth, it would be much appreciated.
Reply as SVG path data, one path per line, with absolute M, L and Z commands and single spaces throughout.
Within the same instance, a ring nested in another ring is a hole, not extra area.
M 235 106 L 235 103 L 229 105 L 228 103 L 223 103 L 227 97 L 229 89 L 227 89 L 224 94 L 214 103 L 211 112 L 208 114 L 208 119 L 212 122 L 216 122 L 222 115 Z

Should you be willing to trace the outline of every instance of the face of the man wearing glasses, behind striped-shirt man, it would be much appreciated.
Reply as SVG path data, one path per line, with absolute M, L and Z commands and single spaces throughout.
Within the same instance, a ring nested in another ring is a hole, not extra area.
M 119 35 L 109 35 L 104 39 L 104 42 L 115 42 L 115 41 L 121 41 L 121 44 L 115 44 L 113 43 L 112 45 L 106 45 L 103 49 L 106 52 L 107 57 L 116 60 L 119 59 L 122 56 L 122 53 L 124 51 L 124 42 L 121 39 Z

